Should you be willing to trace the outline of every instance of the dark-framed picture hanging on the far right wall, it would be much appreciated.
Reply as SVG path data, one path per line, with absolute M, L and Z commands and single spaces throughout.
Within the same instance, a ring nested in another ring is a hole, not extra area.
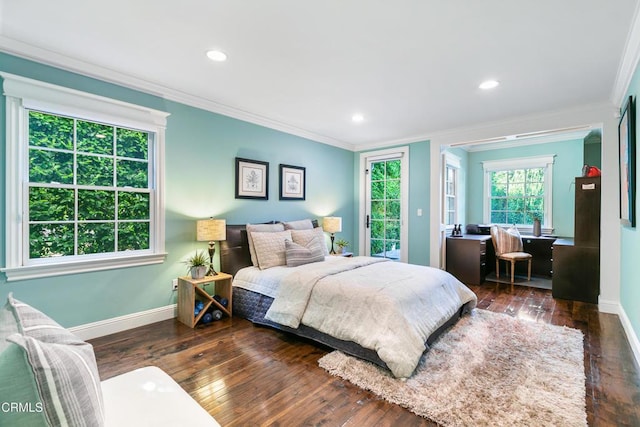
M 633 97 L 629 97 L 618 124 L 620 155 L 620 222 L 636 226 L 636 113 Z

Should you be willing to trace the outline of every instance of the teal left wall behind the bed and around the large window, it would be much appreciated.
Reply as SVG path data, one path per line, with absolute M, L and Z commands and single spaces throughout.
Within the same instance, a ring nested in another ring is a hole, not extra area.
M 215 216 L 227 224 L 338 215 L 341 237 L 353 233 L 354 153 L 283 132 L 203 111 L 160 97 L 0 53 L 0 70 L 166 111 L 166 251 L 162 264 L 7 282 L 9 292 L 71 327 L 175 302 L 171 280 L 186 273 L 182 261 L 206 243 L 195 241 L 196 219 Z M 5 100 L 0 99 L 0 152 L 6 152 Z M 235 157 L 269 162 L 269 200 L 235 199 Z M 5 162 L 0 162 L 0 265 L 6 265 Z M 278 200 L 278 165 L 306 167 L 306 201 Z M 345 185 L 336 185 L 345 183 Z

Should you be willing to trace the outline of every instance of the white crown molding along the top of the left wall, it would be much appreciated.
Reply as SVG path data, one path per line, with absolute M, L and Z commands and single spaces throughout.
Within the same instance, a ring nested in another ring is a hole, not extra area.
M 81 74 L 87 77 L 102 80 L 108 83 L 117 84 L 129 89 L 141 91 L 169 101 L 200 108 L 212 113 L 232 117 L 234 119 L 253 123 L 269 129 L 299 136 L 314 142 L 331 145 L 345 150 L 353 151 L 353 144 L 319 135 L 296 126 L 291 126 L 277 120 L 270 119 L 258 114 L 253 114 L 242 109 L 220 104 L 198 96 L 190 95 L 175 89 L 168 88 L 157 83 L 150 82 L 135 76 L 131 76 L 119 71 L 114 71 L 106 67 L 97 66 L 88 62 L 62 55 L 47 49 L 23 43 L 6 36 L 0 35 L 0 51 L 35 61 L 41 64 L 56 67 L 65 71 Z

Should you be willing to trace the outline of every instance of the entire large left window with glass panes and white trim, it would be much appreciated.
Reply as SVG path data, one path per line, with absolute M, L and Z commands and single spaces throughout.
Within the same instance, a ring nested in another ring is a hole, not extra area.
M 7 279 L 162 262 L 167 114 L 2 77 Z

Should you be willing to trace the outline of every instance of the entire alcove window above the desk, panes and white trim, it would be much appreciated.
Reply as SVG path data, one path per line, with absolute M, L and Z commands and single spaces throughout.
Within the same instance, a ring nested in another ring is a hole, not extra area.
M 551 228 L 553 157 L 484 162 L 485 222 Z

